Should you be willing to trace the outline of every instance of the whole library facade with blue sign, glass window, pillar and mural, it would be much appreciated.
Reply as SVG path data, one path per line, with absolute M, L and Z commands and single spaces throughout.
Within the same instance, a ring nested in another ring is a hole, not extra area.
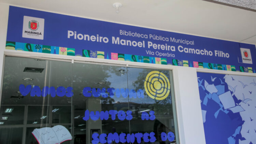
M 253 44 L 1 4 L 1 143 L 254 143 Z

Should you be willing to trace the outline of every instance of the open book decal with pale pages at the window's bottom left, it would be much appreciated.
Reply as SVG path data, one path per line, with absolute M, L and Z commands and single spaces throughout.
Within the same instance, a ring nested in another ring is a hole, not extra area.
M 39 144 L 60 144 L 72 139 L 70 132 L 61 125 L 34 129 L 32 134 Z

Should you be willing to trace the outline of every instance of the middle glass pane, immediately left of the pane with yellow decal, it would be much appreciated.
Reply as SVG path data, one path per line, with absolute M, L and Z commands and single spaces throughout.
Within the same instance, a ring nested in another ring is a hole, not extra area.
M 129 121 L 116 114 L 129 109 L 125 67 L 74 63 L 73 88 L 75 144 L 91 143 L 93 133 L 129 133 Z

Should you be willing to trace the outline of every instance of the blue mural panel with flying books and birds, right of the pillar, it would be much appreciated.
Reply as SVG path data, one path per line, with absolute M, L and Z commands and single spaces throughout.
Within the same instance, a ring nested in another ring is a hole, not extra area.
M 197 73 L 207 144 L 256 143 L 256 77 Z

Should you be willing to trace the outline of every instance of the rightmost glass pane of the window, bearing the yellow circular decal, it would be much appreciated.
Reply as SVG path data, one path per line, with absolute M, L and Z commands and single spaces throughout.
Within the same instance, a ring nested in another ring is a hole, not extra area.
M 176 143 L 171 85 L 170 71 L 128 68 L 128 87 L 137 92 L 129 97 L 130 129 L 143 134 L 144 142 Z

